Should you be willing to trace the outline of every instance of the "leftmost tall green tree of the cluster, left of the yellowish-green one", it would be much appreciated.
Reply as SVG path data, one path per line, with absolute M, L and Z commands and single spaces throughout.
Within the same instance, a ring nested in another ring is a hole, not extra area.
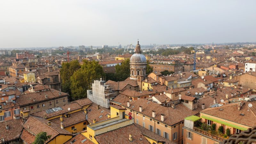
M 61 89 L 63 92 L 70 93 L 70 77 L 74 74 L 76 70 L 80 68 L 78 60 L 73 60 L 71 62 L 65 62 L 62 64 L 60 69 L 60 78 L 61 78 Z

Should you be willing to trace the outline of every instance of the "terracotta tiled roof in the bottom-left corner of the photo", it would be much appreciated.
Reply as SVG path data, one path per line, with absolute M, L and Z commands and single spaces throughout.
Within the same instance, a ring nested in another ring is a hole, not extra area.
M 5 124 L 9 126 L 9 129 L 6 130 Z M 22 132 L 22 125 L 23 125 L 23 120 L 20 119 L 11 119 L 5 122 L 0 123 L 0 137 L 4 138 L 4 142 L 12 141 L 15 139 L 20 138 L 20 134 Z M 0 140 L 0 143 L 3 143 Z

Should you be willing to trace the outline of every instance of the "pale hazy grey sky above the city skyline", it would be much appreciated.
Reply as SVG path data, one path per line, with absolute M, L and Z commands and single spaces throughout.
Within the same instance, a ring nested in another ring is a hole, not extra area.
M 256 41 L 256 0 L 1 0 L 0 48 Z

